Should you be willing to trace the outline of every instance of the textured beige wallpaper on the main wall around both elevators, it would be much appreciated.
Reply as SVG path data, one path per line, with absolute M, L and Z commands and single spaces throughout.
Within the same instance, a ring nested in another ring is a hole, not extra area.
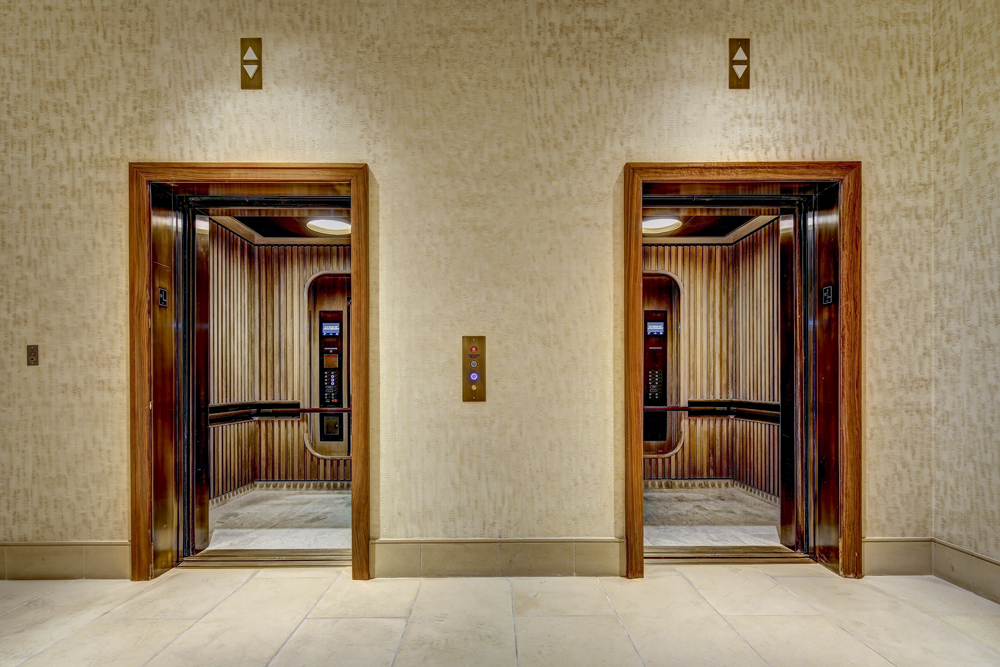
M 929 0 L 0 0 L 0 18 L 0 539 L 128 536 L 130 160 L 371 165 L 384 538 L 621 535 L 626 161 L 862 160 L 866 531 L 931 532 Z M 262 91 L 239 90 L 250 36 Z M 749 91 L 727 89 L 729 37 L 752 40 Z M 469 334 L 489 342 L 484 404 L 460 400 Z

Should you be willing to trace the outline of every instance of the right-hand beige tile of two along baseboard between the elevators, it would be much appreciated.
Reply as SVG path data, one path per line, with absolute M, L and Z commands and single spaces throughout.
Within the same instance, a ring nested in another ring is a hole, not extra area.
M 514 613 L 527 616 L 614 614 L 601 582 L 592 578 L 511 579 Z

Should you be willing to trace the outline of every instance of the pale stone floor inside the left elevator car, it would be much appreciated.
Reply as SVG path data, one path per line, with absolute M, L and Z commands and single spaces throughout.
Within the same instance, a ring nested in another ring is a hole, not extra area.
M 350 490 L 254 489 L 209 512 L 208 549 L 350 549 Z

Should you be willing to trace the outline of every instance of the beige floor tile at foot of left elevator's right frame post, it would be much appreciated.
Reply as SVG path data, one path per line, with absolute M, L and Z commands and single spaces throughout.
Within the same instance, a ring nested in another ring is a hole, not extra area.
M 354 581 L 340 577 L 309 614 L 311 618 L 406 618 L 420 588 L 419 579 Z

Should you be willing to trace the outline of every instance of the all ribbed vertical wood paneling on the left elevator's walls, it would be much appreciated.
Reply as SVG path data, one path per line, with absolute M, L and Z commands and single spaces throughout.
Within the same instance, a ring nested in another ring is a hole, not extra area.
M 212 224 L 211 402 L 300 401 L 308 344 L 306 281 L 349 272 L 347 246 L 260 246 Z M 255 480 L 349 480 L 350 461 L 319 459 L 291 419 L 209 429 L 212 497 Z

